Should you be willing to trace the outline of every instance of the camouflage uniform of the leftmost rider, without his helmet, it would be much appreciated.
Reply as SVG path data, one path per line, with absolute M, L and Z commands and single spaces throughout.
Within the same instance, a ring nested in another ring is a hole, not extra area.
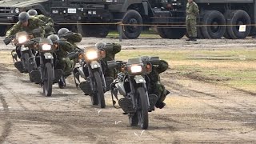
M 29 18 L 28 19 L 28 26 L 22 26 L 22 22 L 17 22 L 14 26 L 12 26 L 10 28 L 10 30 L 8 30 L 6 32 L 6 37 L 10 37 L 11 35 L 14 35 L 16 33 L 18 33 L 19 31 L 26 31 L 27 33 L 32 33 L 32 30 L 34 29 L 40 29 L 41 30 L 41 34 L 40 37 L 44 38 L 45 35 L 45 22 L 43 22 L 42 20 L 38 19 L 38 18 Z

